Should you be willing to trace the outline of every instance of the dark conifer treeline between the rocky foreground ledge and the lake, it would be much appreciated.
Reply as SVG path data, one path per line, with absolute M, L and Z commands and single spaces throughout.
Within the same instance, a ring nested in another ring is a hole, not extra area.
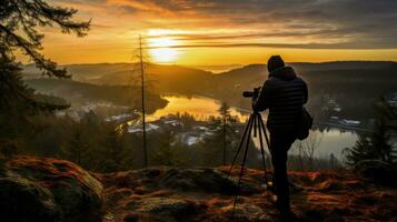
M 244 130 L 242 127 L 232 127 L 231 123 L 236 122 L 236 119 L 227 117 L 225 121 L 221 115 L 209 118 L 207 121 L 198 121 L 188 113 L 177 114 L 173 119 L 183 127 L 148 132 L 150 167 L 211 168 L 231 164 Z M 37 115 L 32 121 L 37 129 L 31 131 L 29 139 L 20 138 L 17 140 L 20 144 L 3 150 L 6 152 L 1 152 L 2 155 L 32 154 L 66 159 L 96 172 L 116 172 L 143 167 L 142 135 L 128 133 L 127 124 L 106 122 L 95 112 L 86 113 L 79 121 L 69 117 L 54 118 L 51 114 Z M 214 134 L 190 145 L 178 139 L 181 134 L 191 132 L 197 125 L 206 125 Z M 314 135 L 310 141 L 312 140 L 318 140 L 318 137 Z M 289 157 L 289 170 L 314 171 L 341 168 L 335 157 L 316 158 L 317 147 L 318 143 L 308 142 L 292 148 L 301 153 Z M 242 152 L 236 161 L 237 168 L 241 155 Z M 271 162 L 268 152 L 266 152 L 266 164 L 269 170 Z M 246 167 L 262 168 L 260 152 L 254 147 L 252 141 L 248 150 Z

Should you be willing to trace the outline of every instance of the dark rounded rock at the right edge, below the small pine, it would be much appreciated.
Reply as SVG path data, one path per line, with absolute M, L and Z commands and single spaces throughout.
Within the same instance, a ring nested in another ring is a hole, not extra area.
M 374 182 L 384 185 L 396 185 L 396 167 L 381 160 L 363 160 L 355 165 L 355 171 Z

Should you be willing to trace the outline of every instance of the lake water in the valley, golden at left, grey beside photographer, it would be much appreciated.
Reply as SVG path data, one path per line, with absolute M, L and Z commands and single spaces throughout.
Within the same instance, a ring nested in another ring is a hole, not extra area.
M 183 97 L 183 95 L 163 95 L 163 99 L 168 100 L 168 104 L 157 110 L 152 114 L 148 114 L 148 121 L 159 119 L 160 117 L 176 113 L 188 112 L 192 114 L 198 120 L 206 120 L 209 117 L 219 117 L 218 109 L 220 102 L 218 100 L 206 98 L 206 97 Z M 249 110 L 241 110 L 238 108 L 230 108 L 230 113 L 237 115 L 239 121 L 245 122 L 249 117 Z M 266 115 L 264 114 L 266 119 Z M 355 132 L 329 129 L 329 130 L 314 130 L 312 134 L 320 138 L 320 143 L 316 150 L 316 157 L 328 158 L 330 153 L 334 153 L 336 158 L 341 159 L 341 150 L 347 147 L 353 147 L 357 141 L 358 137 Z M 258 144 L 257 141 L 255 141 Z M 294 153 L 294 148 L 291 153 Z

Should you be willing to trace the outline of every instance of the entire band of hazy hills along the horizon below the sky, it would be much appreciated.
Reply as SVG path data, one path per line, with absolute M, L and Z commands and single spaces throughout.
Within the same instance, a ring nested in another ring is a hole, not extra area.
M 397 91 L 397 62 L 336 61 L 289 63 L 309 84 L 310 105 L 320 110 L 327 99 L 344 105 L 343 115 L 370 113 L 374 102 Z M 139 85 L 140 75 L 132 63 L 64 65 L 72 80 L 99 85 Z M 135 70 L 135 71 L 133 71 Z M 215 74 L 201 69 L 146 63 L 148 90 L 158 93 L 200 94 L 249 108 L 244 90 L 261 85 L 267 79 L 266 64 L 249 64 Z M 32 65 L 24 69 L 26 79 L 40 77 Z M 349 112 L 348 110 L 350 110 Z M 357 110 L 361 109 L 361 110 Z M 369 114 L 370 115 L 370 114 Z

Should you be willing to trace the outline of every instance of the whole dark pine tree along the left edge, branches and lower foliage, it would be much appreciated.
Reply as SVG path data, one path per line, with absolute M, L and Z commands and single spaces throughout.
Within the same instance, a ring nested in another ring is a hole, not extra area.
M 29 117 L 39 111 L 53 111 L 68 105 L 49 104 L 34 97 L 21 80 L 20 63 L 13 54 L 21 51 L 48 77 L 69 78 L 66 69 L 44 58 L 43 34 L 38 27 L 57 24 L 62 32 L 87 33 L 90 22 L 73 21 L 75 9 L 53 7 L 43 0 L 2 0 L 0 3 L 0 144 L 20 144 L 28 131 Z

